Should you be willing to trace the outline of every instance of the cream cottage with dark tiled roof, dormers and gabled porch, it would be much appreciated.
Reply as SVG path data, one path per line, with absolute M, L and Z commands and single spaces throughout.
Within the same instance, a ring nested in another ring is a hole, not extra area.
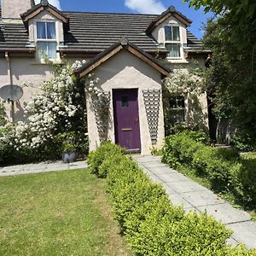
M 0 16 L 0 87 L 32 83 L 9 116 L 23 116 L 24 104 L 52 73 L 44 61 L 86 60 L 77 75 L 95 73 L 109 99 L 102 123 L 88 94 L 90 149 L 102 136 L 132 152 L 148 154 L 165 136 L 162 79 L 172 70 L 204 67 L 208 49 L 188 31 L 191 20 L 173 7 L 161 15 L 103 14 L 61 11 L 47 0 L 2 0 Z M 196 122 L 207 129 L 207 97 L 199 97 L 201 114 L 189 95 L 173 96 L 174 122 Z

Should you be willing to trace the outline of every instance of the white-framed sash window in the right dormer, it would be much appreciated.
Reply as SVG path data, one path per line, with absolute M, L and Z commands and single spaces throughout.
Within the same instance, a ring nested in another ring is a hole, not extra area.
M 169 51 L 167 57 L 181 58 L 181 37 L 179 26 L 165 26 L 165 47 Z

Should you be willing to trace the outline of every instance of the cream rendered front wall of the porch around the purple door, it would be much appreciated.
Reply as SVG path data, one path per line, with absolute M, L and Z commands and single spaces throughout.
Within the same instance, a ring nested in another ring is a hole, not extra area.
M 122 50 L 119 54 L 114 55 L 110 60 L 97 67 L 94 71 L 96 77 L 100 79 L 98 86 L 102 90 L 110 91 L 110 117 L 108 125 L 108 137 L 114 142 L 114 124 L 113 124 L 113 101 L 112 93 L 114 89 L 138 89 L 138 104 L 140 117 L 140 132 L 142 154 L 150 154 L 152 147 L 148 130 L 148 119 L 143 100 L 143 90 L 155 89 L 161 90 L 160 73 L 153 67 L 148 66 L 145 62 L 138 59 L 126 50 Z M 96 117 L 92 109 L 90 96 L 88 97 L 88 132 L 90 140 L 90 150 L 95 149 L 99 142 L 99 134 L 97 132 Z M 164 115 L 162 101 L 160 99 L 160 115 L 158 125 L 158 140 L 156 147 L 160 148 L 165 137 L 164 131 Z

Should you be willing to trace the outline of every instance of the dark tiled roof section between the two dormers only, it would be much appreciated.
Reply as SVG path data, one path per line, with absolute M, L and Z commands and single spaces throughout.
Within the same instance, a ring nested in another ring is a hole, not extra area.
M 154 15 L 119 15 L 101 13 L 69 13 L 70 32 L 65 33 L 69 49 L 101 52 L 120 38 L 145 51 L 156 51 L 157 42 L 144 32 Z

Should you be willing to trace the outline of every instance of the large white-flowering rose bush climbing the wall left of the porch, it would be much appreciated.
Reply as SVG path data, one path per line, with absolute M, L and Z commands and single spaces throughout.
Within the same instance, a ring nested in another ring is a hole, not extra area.
M 92 75 L 86 79 L 75 76 L 74 71 L 84 63 L 75 61 L 72 66 L 57 69 L 55 78 L 41 85 L 40 92 L 26 104 L 26 120 L 15 125 L 7 124 L 2 129 L 0 127 L 0 131 L 6 131 L 0 133 L 2 147 L 28 151 L 29 154 L 31 149 L 37 152 L 44 148 L 47 153 L 47 148 L 61 143 L 55 140 L 58 134 L 74 131 L 75 143 L 80 151 L 86 151 L 83 148 L 87 136 L 85 90 L 95 88 L 99 79 L 94 79 Z M 93 93 L 101 96 L 99 90 L 93 90 Z

